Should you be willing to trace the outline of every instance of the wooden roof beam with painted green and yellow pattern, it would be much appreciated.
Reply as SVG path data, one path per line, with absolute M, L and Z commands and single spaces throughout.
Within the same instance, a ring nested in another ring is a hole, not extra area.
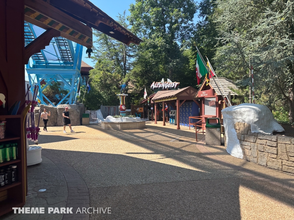
M 71 3 L 72 4 L 72 3 Z M 25 21 L 48 30 L 60 31 L 61 37 L 87 48 L 93 46 L 92 28 L 56 9 L 43 0 L 25 0 Z

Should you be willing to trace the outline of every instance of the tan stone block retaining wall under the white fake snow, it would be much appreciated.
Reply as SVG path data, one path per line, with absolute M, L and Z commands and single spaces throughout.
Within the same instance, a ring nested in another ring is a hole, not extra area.
M 245 160 L 294 174 L 294 138 L 252 133 L 250 125 L 242 122 L 234 128 Z

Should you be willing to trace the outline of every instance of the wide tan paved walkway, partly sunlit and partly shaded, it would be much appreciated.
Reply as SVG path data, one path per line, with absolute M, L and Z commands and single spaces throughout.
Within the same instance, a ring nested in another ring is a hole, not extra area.
M 68 192 L 66 207 L 111 207 L 111 214 L 71 218 L 293 219 L 294 176 L 196 142 L 193 130 L 146 125 L 76 126 L 75 133 L 50 127 L 40 136 L 43 156 L 63 173 L 68 191 L 76 190 Z

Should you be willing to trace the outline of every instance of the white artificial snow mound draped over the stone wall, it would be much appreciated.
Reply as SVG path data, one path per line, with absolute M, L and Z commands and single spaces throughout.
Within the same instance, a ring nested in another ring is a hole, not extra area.
M 270 109 L 264 105 L 243 103 L 225 108 L 221 112 L 227 142 L 226 150 L 237 158 L 243 158 L 243 154 L 234 128 L 236 122 L 250 124 L 252 133 L 271 134 L 274 131 L 285 131 L 274 119 Z

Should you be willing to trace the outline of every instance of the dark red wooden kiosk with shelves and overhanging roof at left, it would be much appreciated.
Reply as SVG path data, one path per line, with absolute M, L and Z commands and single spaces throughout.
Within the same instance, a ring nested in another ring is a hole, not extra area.
M 25 46 L 24 21 L 45 29 L 38 38 Z M 0 120 L 6 121 L 6 137 L 0 144 L 13 141 L 18 146 L 16 160 L 0 163 L 0 169 L 17 165 L 18 181 L 0 187 L 0 216 L 23 207 L 27 195 L 26 140 L 24 116 L 9 115 L 16 101 L 25 102 L 25 64 L 40 53 L 53 37 L 64 37 L 92 52 L 92 28 L 126 45 L 142 40 L 109 17 L 88 0 L 2 0 L 0 1 L 0 93 L 5 107 L 0 106 Z

